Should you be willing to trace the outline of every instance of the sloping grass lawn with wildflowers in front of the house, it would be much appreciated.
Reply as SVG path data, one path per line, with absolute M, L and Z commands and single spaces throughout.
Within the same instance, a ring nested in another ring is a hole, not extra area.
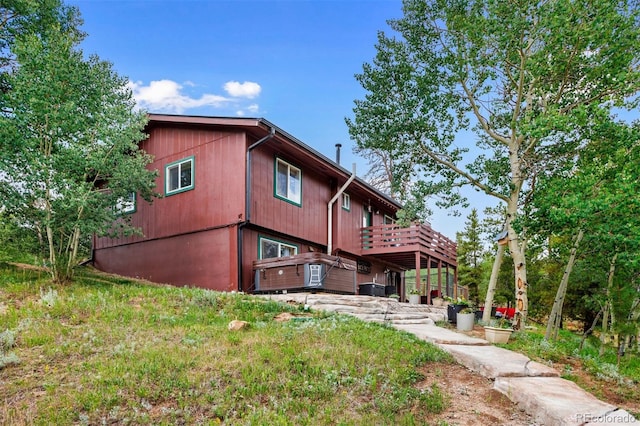
M 416 384 L 453 360 L 411 334 L 90 269 L 56 286 L 0 263 L 0 333 L 2 424 L 410 425 L 451 404 Z

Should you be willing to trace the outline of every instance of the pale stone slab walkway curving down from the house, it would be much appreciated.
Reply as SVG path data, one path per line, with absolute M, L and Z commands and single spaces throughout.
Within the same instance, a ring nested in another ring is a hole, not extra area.
M 364 321 L 385 322 L 415 334 L 449 352 L 460 364 L 494 382 L 541 425 L 640 425 L 630 413 L 600 401 L 558 371 L 525 355 L 491 345 L 484 339 L 438 327 L 446 309 L 410 305 L 370 296 L 290 293 L 264 295 L 273 300 L 307 305 L 311 309 L 354 315 Z

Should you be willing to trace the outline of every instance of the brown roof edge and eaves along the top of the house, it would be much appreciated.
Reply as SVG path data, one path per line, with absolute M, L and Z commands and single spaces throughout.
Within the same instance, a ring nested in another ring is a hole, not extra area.
M 342 167 L 340 164 L 336 163 L 329 157 L 321 154 L 319 151 L 311 148 L 309 145 L 302 142 L 300 139 L 291 135 L 290 133 L 282 130 L 280 127 L 271 123 L 269 120 L 265 118 L 250 118 L 250 117 L 213 117 L 213 116 L 201 116 L 201 115 L 177 115 L 177 114 L 147 114 L 150 122 L 159 122 L 159 123 L 175 123 L 175 124 L 200 124 L 200 125 L 228 125 L 228 126 L 244 126 L 244 127 L 256 127 L 264 130 L 265 132 L 270 132 L 271 129 L 274 129 L 276 134 L 281 135 L 285 139 L 293 142 L 298 145 L 300 148 L 308 151 L 313 156 L 318 159 L 328 163 L 332 168 L 342 172 L 348 178 L 351 176 L 352 172 Z M 389 195 L 381 192 L 380 190 L 374 188 L 360 177 L 355 178 L 355 182 L 362 185 L 368 191 L 375 193 L 377 196 L 385 200 L 386 202 L 395 205 L 398 209 L 402 208 L 402 204 L 398 201 L 390 197 Z

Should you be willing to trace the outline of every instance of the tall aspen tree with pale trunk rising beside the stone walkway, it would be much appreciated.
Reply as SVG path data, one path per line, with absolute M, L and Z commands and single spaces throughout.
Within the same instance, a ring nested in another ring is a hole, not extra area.
M 514 221 L 531 211 L 540 176 L 570 172 L 613 108 L 636 107 L 639 13 L 607 0 L 404 0 L 356 76 L 366 95 L 349 132 L 393 159 L 395 179 L 416 182 L 420 199 L 455 209 L 472 187 L 504 203 L 514 280 L 528 284 L 519 266 L 530 234 Z M 521 325 L 526 285 L 517 298 Z

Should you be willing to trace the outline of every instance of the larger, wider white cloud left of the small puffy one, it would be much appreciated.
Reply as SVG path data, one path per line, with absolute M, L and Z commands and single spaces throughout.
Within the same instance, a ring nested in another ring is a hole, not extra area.
M 193 83 L 187 82 L 191 86 Z M 220 95 L 203 94 L 192 98 L 182 93 L 182 85 L 171 80 L 156 80 L 145 86 L 142 82 L 129 82 L 138 106 L 149 111 L 163 111 L 182 114 L 185 110 L 198 107 L 221 108 L 230 99 Z

